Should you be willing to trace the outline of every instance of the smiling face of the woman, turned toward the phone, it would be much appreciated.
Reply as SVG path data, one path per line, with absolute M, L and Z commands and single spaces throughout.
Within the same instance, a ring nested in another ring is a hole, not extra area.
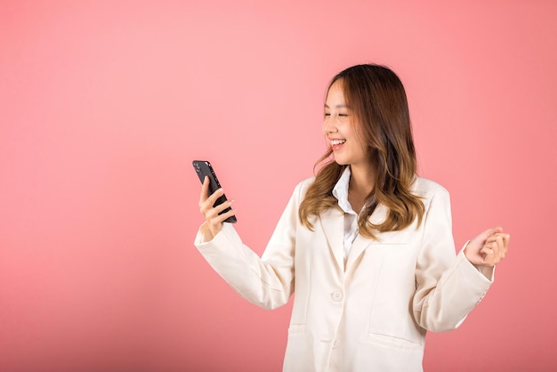
M 341 166 L 367 166 L 366 148 L 358 135 L 358 119 L 353 115 L 344 99 L 343 82 L 336 80 L 329 88 L 325 101 L 323 133 Z

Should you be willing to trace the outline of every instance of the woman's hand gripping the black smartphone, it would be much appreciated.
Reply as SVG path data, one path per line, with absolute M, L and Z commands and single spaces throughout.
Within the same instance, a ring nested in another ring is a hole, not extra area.
M 227 213 L 220 214 L 224 209 L 232 206 L 234 200 L 227 200 L 221 205 L 214 206 L 216 199 L 222 197 L 224 190 L 219 189 L 214 191 L 209 196 L 209 177 L 203 180 L 201 186 L 201 195 L 199 197 L 199 212 L 205 217 L 205 222 L 201 225 L 201 231 L 205 236 L 205 241 L 209 241 L 222 229 L 222 222 L 230 216 L 236 214 L 234 209 L 230 208 Z

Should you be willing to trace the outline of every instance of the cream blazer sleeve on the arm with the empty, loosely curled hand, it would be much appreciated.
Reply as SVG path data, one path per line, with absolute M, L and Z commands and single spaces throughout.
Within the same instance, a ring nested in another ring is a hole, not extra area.
M 464 256 L 455 256 L 448 191 L 435 190 L 424 215 L 422 249 L 416 263 L 414 318 L 433 332 L 455 329 L 488 291 L 488 280 Z

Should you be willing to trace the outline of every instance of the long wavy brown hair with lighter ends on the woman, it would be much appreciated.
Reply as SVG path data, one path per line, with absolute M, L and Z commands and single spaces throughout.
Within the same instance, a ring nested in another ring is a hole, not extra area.
M 416 178 L 416 150 L 412 139 L 407 96 L 400 78 L 381 65 L 365 64 L 344 69 L 333 77 L 328 89 L 342 81 L 344 98 L 359 123 L 357 133 L 367 147 L 369 163 L 374 168 L 375 185 L 367 195 L 358 218 L 359 233 L 376 238 L 377 232 L 403 230 L 424 216 L 424 203 L 414 195 L 410 186 Z M 327 92 L 328 92 L 327 89 Z M 318 216 L 331 207 L 338 207 L 333 188 L 346 166 L 331 157 L 333 150 L 319 158 L 319 168 L 300 205 L 299 218 L 313 230 L 311 216 Z M 379 205 L 388 213 L 383 222 L 369 219 Z

